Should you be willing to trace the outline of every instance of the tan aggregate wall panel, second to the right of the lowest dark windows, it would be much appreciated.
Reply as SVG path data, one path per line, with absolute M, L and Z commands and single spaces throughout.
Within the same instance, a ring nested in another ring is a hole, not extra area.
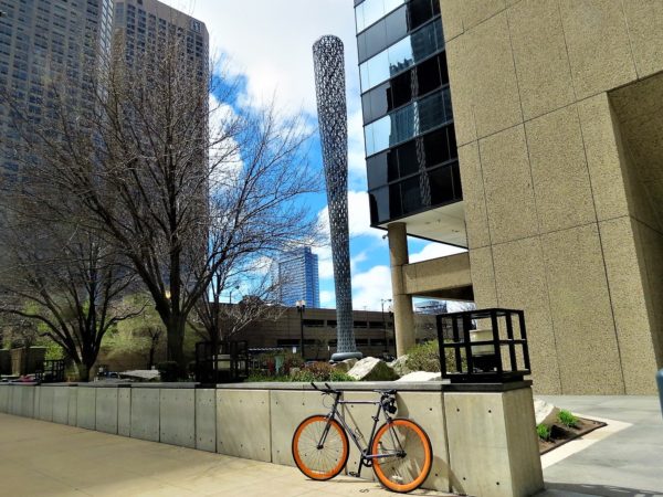
M 538 234 L 525 128 L 515 126 L 480 140 L 493 243 Z

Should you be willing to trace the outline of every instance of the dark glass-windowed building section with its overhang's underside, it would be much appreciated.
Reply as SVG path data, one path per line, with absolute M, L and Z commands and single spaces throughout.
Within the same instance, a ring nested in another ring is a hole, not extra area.
M 371 225 L 465 246 L 440 2 L 355 0 L 355 15 Z

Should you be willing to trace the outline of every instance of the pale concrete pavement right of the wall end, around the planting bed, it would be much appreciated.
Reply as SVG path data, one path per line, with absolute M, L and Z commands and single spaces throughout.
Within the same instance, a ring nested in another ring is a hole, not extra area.
M 552 451 L 585 447 L 544 469 L 548 490 L 539 497 L 663 497 L 663 416 L 656 396 L 537 396 L 572 413 L 628 423 L 609 436 L 601 432 L 614 424 Z

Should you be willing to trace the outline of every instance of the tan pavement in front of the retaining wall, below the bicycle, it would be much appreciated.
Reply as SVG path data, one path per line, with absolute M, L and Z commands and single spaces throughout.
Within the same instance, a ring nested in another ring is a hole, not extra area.
M 369 473 L 368 470 L 367 473 Z M 379 484 L 0 414 L 0 495 L 392 497 Z M 444 496 L 417 490 L 410 495 Z

